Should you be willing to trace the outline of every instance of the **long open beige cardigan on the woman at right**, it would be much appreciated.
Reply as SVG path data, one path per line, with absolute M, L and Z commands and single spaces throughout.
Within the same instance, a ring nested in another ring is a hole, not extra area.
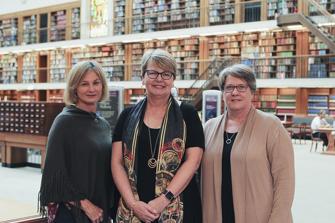
M 204 126 L 201 163 L 204 223 L 222 222 L 221 178 L 223 133 L 227 114 Z M 231 155 L 236 223 L 292 223 L 294 155 L 291 138 L 280 120 L 254 106 L 242 124 Z

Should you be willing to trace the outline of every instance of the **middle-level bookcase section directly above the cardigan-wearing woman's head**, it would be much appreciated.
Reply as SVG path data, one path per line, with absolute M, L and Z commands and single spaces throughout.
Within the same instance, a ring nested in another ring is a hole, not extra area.
M 250 66 L 256 78 L 292 78 L 296 75 L 296 32 L 253 32 L 242 34 L 242 63 Z M 271 59 L 280 56 L 282 58 Z M 262 59 L 264 58 L 264 59 Z

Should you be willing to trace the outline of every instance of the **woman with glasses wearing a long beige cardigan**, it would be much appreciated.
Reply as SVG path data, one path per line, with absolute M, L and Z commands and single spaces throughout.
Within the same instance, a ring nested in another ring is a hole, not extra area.
M 256 109 L 254 72 L 234 64 L 219 74 L 227 111 L 205 123 L 203 222 L 293 222 L 294 158 L 279 118 Z

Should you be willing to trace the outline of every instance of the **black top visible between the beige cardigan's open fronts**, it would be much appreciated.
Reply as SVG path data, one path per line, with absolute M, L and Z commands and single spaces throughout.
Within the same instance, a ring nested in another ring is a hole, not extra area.
M 234 206 L 232 200 L 232 185 L 231 185 L 231 167 L 230 153 L 234 144 L 237 133 L 227 133 L 224 131 L 224 144 L 222 150 L 222 182 L 221 182 L 221 206 L 222 206 L 222 223 L 235 223 Z M 231 138 L 232 137 L 232 138 Z M 231 138 L 231 139 L 230 139 Z M 227 139 L 231 142 L 226 143 Z

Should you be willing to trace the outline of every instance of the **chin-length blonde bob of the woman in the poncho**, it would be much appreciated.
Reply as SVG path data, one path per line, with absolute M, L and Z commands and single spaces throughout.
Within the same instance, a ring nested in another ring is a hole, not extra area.
M 75 64 L 68 74 L 63 95 L 63 101 L 66 104 L 76 104 L 78 102 L 78 96 L 75 94 L 75 90 L 79 86 L 81 80 L 90 71 L 94 71 L 103 84 L 102 94 L 98 102 L 104 102 L 109 99 L 109 90 L 104 69 L 96 61 L 85 60 Z

